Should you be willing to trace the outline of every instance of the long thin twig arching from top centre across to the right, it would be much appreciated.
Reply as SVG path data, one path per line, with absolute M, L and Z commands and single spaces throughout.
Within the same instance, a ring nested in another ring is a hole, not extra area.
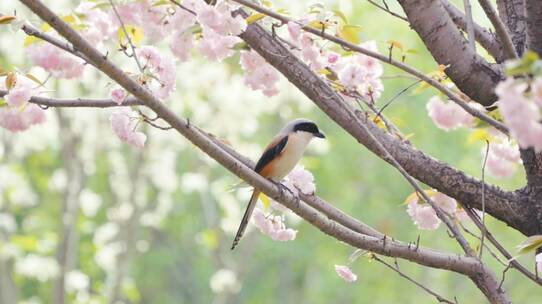
M 407 73 L 409 73 L 411 75 L 414 75 L 418 79 L 423 80 L 424 82 L 427 82 L 429 85 L 431 85 L 432 87 L 434 87 L 437 90 L 439 90 L 440 92 L 442 92 L 451 101 L 458 104 L 461 108 L 463 108 L 469 114 L 478 117 L 482 121 L 487 122 L 488 124 L 492 125 L 497 130 L 503 132 L 504 134 L 508 134 L 508 128 L 503 123 L 501 123 L 501 122 L 493 119 L 489 115 L 487 115 L 487 114 L 485 114 L 485 113 L 483 113 L 483 112 L 469 106 L 459 95 L 455 94 L 452 90 L 447 88 L 445 85 L 440 83 L 438 80 L 435 80 L 435 79 L 431 78 L 430 76 L 425 75 L 424 73 L 416 70 L 415 68 L 413 68 L 413 67 L 411 67 L 411 66 L 409 66 L 407 64 L 404 64 L 404 63 L 399 62 L 397 60 L 394 60 L 392 58 L 388 58 L 388 56 L 379 54 L 377 52 L 370 51 L 368 49 L 365 49 L 363 47 L 360 47 L 358 45 L 350 43 L 350 42 L 348 42 L 346 40 L 343 40 L 343 39 L 341 39 L 341 38 L 339 38 L 337 36 L 327 34 L 327 33 L 322 33 L 321 30 L 318 30 L 318 29 L 313 28 L 311 26 L 300 24 L 299 22 L 297 22 L 297 21 L 295 21 L 293 19 L 290 19 L 290 18 L 288 18 L 286 16 L 283 16 L 283 15 L 281 15 L 279 13 L 276 13 L 276 12 L 274 12 L 272 10 L 261 7 L 260 5 L 254 4 L 254 3 L 250 2 L 250 1 L 247 1 L 247 0 L 232 0 L 232 1 L 237 2 L 239 4 L 242 4 L 242 5 L 246 6 L 246 7 L 249 7 L 249 8 L 251 8 L 251 9 L 253 9 L 253 10 L 259 12 L 259 13 L 262 13 L 262 14 L 267 15 L 269 17 L 272 17 L 274 19 L 280 20 L 283 23 L 296 22 L 302 27 L 302 29 L 304 31 L 312 33 L 312 34 L 314 34 L 316 36 L 319 36 L 321 38 L 324 38 L 326 40 L 332 41 L 332 42 L 342 46 L 346 50 L 351 50 L 351 51 L 354 51 L 354 52 L 358 52 L 358 53 L 367 55 L 369 57 L 376 58 L 376 59 L 378 59 L 380 61 L 383 61 L 385 63 L 393 65 L 393 66 L 395 66 L 395 67 L 397 67 L 397 68 L 399 68 L 399 69 L 401 69 L 401 70 L 403 70 L 403 71 L 405 71 L 405 72 L 407 72 Z

